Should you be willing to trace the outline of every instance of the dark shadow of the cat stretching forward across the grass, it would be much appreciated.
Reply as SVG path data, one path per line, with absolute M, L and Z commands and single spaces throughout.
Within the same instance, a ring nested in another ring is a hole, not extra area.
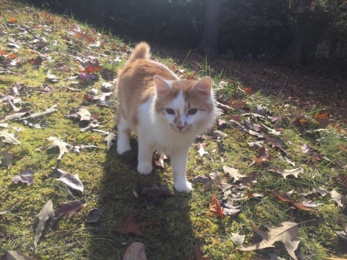
M 144 243 L 148 259 L 193 259 L 191 194 L 174 190 L 169 161 L 165 161 L 166 169 L 158 166 L 149 175 L 137 173 L 137 139 L 131 138 L 130 146 L 133 150 L 121 156 L 117 155 L 116 144 L 105 153 L 97 205 L 103 209 L 103 216 L 93 229 L 99 237 L 90 246 L 93 259 L 122 259 L 128 245 L 137 241 Z M 167 187 L 171 195 L 148 199 L 142 192 L 153 184 Z M 117 225 L 130 214 L 137 223 L 155 223 L 141 227 L 143 236 L 119 234 Z M 100 243 L 100 237 L 107 243 Z M 115 255 L 118 257 L 110 258 Z

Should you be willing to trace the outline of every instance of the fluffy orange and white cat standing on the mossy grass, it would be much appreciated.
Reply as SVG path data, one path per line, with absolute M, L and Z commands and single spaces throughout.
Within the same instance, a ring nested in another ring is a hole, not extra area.
M 131 150 L 130 132 L 136 132 L 137 171 L 151 173 L 156 149 L 171 157 L 176 191 L 190 192 L 192 184 L 185 175 L 188 150 L 217 114 L 212 80 L 178 78 L 167 66 L 151 60 L 149 44 L 140 42 L 118 72 L 115 95 L 117 153 Z

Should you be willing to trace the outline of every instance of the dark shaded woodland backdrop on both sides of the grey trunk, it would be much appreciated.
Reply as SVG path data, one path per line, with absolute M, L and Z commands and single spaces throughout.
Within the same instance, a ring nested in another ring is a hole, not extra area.
M 195 48 L 201 40 L 206 1 L 32 0 L 73 14 L 133 40 Z M 346 64 L 347 3 L 344 0 L 225 0 L 220 15 L 219 52 L 235 58 L 286 63 Z M 300 32 L 296 30 L 299 26 Z M 300 41 L 298 47 L 294 41 Z M 300 54 L 290 62 L 292 49 Z M 230 53 L 230 51 L 229 51 Z M 297 64 L 296 64 L 297 65 Z

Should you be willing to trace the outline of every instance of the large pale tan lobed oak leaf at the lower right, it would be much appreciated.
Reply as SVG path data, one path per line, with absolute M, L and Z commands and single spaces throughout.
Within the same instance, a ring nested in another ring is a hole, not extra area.
M 259 243 L 255 243 L 254 245 L 244 246 L 242 248 L 237 248 L 237 250 L 242 251 L 250 251 L 250 250 L 258 250 L 264 248 L 274 248 L 274 243 L 281 241 L 289 253 L 289 255 L 298 260 L 295 255 L 295 250 L 298 248 L 298 244 L 300 243 L 300 239 L 296 236 L 298 234 L 298 225 L 301 223 L 295 222 L 283 222 L 280 227 L 268 227 L 269 232 L 264 236 L 264 234 L 260 233 L 262 236 L 262 241 Z M 255 230 L 255 232 L 257 232 Z

